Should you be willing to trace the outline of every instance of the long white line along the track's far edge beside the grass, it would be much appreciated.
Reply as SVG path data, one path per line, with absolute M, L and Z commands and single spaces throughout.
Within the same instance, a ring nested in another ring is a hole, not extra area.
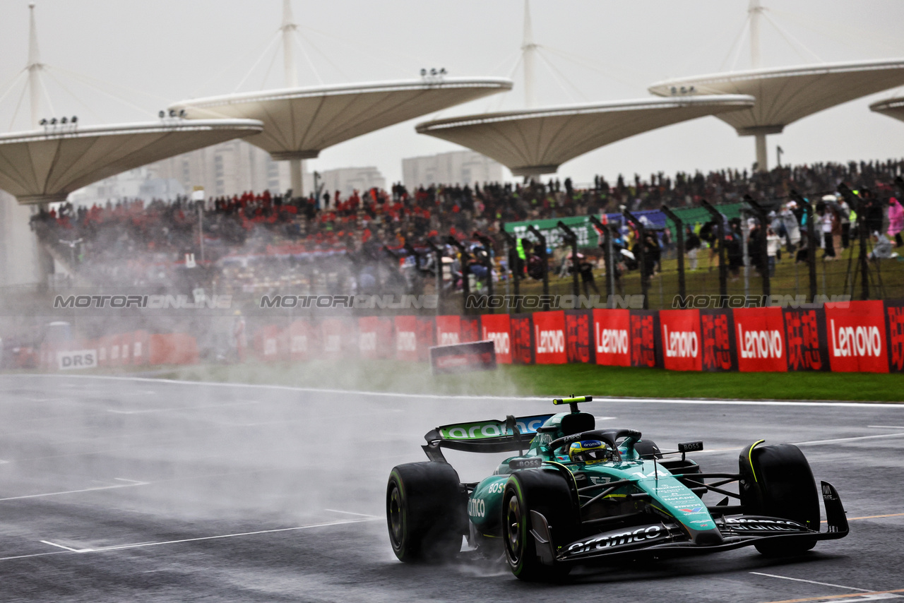
M 359 390 L 334 390 L 326 388 L 310 388 L 296 387 L 291 385 L 255 385 L 253 383 L 226 383 L 226 382 L 196 382 L 184 381 L 178 379 L 153 379 L 150 377 L 116 377 L 111 375 L 58 375 L 53 373 L 39 374 L 11 374 L 6 377 L 14 378 L 55 378 L 55 379 L 100 379 L 107 381 L 128 381 L 128 382 L 151 382 L 151 383 L 173 383 L 177 385 L 201 385 L 204 387 L 245 387 L 257 388 L 262 390 L 277 391 L 312 391 L 315 393 L 331 393 L 331 394 L 350 394 L 350 395 L 366 395 L 366 396 L 388 396 L 391 398 L 414 398 L 423 400 L 538 400 L 549 401 L 551 397 L 540 396 L 444 396 L 429 393 L 393 393 L 391 391 L 359 391 Z M 853 408 L 876 408 L 876 409 L 898 409 L 904 410 L 904 404 L 896 402 L 833 402 L 833 401 L 796 401 L 796 400 L 687 400 L 683 398 L 607 398 L 604 396 L 596 396 L 594 400 L 624 402 L 624 403 L 641 403 L 641 404 L 717 404 L 728 406 L 840 406 Z

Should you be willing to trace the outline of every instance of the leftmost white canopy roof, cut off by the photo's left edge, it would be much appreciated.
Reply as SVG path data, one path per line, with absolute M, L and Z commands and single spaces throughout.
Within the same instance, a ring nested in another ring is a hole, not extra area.
M 53 126 L 0 135 L 0 188 L 19 203 L 54 203 L 114 174 L 257 134 L 254 119 Z

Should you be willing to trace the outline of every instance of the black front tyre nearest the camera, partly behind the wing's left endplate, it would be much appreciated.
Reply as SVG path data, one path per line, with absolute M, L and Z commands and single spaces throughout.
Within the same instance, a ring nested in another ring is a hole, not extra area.
M 570 566 L 545 565 L 537 554 L 531 511 L 546 518 L 553 535 L 552 550 L 579 537 L 580 515 L 569 483 L 560 472 L 527 469 L 509 477 L 503 493 L 502 525 L 505 560 L 518 578 L 527 581 L 564 579 Z

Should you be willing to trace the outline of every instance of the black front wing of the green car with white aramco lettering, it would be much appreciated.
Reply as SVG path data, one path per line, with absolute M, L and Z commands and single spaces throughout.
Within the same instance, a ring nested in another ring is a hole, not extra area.
M 841 498 L 834 486 L 822 483 L 826 531 L 815 532 L 804 525 L 778 517 L 761 515 L 727 515 L 715 520 L 720 542 L 699 544 L 677 523 L 652 523 L 591 534 L 556 551 L 546 518 L 531 512 L 531 534 L 541 562 L 592 563 L 615 557 L 677 557 L 730 551 L 758 542 L 821 541 L 843 538 L 849 532 Z

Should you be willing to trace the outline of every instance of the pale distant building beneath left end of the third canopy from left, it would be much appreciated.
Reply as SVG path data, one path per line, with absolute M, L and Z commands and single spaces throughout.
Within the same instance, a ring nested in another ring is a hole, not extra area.
M 452 151 L 401 160 L 402 183 L 409 189 L 429 184 L 501 182 L 503 166 L 474 151 Z

